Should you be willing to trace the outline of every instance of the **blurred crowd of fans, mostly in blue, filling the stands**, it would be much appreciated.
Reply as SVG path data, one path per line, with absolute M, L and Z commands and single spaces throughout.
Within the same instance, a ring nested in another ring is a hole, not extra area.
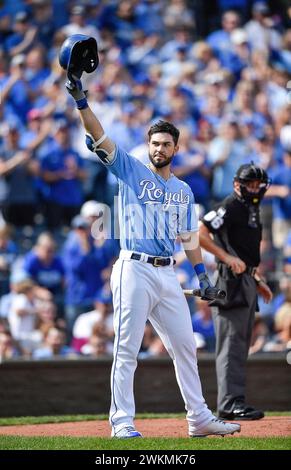
M 77 33 L 98 42 L 99 68 L 83 77 L 106 133 L 147 162 L 148 127 L 173 122 L 173 171 L 201 214 L 232 192 L 242 163 L 267 170 L 261 274 L 275 296 L 259 299 L 250 353 L 290 349 L 290 1 L 2 0 L 0 360 L 112 352 L 119 243 L 91 227 L 113 208 L 117 186 L 89 158 L 58 64 Z M 179 240 L 175 256 L 181 284 L 196 287 Z M 213 273 L 212 256 L 205 262 Z M 198 348 L 214 351 L 208 304 L 189 305 Z M 140 356 L 163 354 L 147 325 Z

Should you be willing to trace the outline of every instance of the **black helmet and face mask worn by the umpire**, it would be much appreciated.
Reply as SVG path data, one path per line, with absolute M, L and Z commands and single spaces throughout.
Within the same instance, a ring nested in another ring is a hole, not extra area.
M 234 181 L 238 181 L 240 183 L 242 199 L 248 204 L 255 205 L 259 204 L 263 199 L 264 194 L 271 183 L 267 172 L 263 168 L 255 165 L 254 162 L 241 165 L 234 176 Z M 260 189 L 257 193 L 251 192 L 247 189 L 246 184 L 251 181 L 260 182 Z

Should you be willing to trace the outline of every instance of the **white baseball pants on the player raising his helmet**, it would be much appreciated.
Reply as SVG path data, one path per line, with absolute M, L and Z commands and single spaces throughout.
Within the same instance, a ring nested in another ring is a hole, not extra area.
M 189 424 L 204 426 L 213 415 L 202 396 L 190 312 L 173 266 L 156 268 L 130 260 L 131 254 L 121 250 L 111 275 L 115 331 L 111 426 L 118 431 L 133 425 L 133 379 L 147 320 L 174 362 Z

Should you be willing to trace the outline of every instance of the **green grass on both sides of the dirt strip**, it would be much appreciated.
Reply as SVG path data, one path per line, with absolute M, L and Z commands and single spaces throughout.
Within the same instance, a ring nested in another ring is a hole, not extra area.
M 291 416 L 268 412 L 267 416 Z M 144 413 L 138 419 L 180 418 L 184 413 Z M 0 418 L 0 426 L 107 420 L 107 415 L 26 416 Z M 291 450 L 291 437 L 143 438 L 118 440 L 98 437 L 0 436 L 0 450 Z

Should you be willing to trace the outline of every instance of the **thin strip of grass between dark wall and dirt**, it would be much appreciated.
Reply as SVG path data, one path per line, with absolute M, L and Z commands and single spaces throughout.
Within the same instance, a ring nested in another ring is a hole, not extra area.
M 271 411 L 266 416 L 291 416 L 291 411 Z M 184 413 L 142 413 L 137 414 L 136 419 L 185 419 Z M 20 424 L 45 424 L 45 423 L 69 423 L 79 421 L 105 421 L 108 415 L 60 415 L 60 416 L 22 416 L 0 418 L 0 426 L 19 426 Z

